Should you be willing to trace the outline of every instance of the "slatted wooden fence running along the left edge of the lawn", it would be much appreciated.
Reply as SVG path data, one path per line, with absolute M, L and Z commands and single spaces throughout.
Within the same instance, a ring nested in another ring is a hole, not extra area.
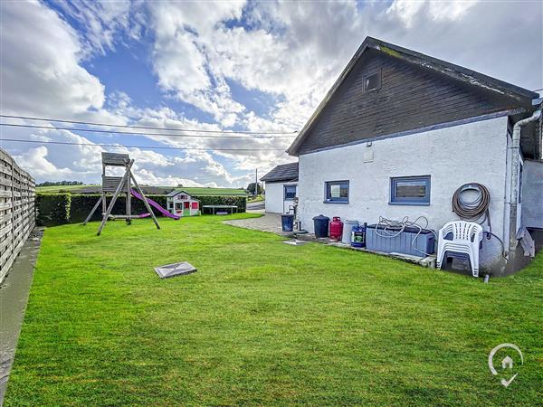
M 0 282 L 35 225 L 35 183 L 0 148 Z

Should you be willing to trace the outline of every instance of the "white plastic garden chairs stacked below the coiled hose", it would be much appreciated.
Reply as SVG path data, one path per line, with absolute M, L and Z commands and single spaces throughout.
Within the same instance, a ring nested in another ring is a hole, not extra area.
M 445 237 L 452 233 L 452 240 Z M 473 277 L 479 277 L 479 244 L 482 241 L 482 227 L 479 223 L 448 222 L 439 230 L 437 242 L 437 268 L 441 269 L 445 252 L 454 251 L 470 256 Z

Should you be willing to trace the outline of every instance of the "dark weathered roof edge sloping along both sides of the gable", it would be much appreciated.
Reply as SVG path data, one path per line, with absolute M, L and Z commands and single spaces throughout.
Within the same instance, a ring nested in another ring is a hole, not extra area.
M 319 118 L 322 110 L 328 105 L 329 101 L 333 98 L 334 94 L 339 89 L 341 84 L 347 79 L 348 74 L 353 70 L 357 62 L 368 50 L 384 52 L 391 57 L 398 58 L 405 62 L 413 63 L 415 65 L 423 67 L 424 69 L 439 72 L 452 79 L 460 80 L 464 83 L 480 87 L 484 90 L 490 90 L 492 92 L 495 92 L 496 94 L 515 100 L 518 103 L 519 107 L 525 107 L 526 109 L 531 108 L 532 99 L 539 98 L 538 93 L 532 90 L 520 88 L 519 86 L 513 85 L 503 80 L 492 78 L 491 76 L 484 75 L 477 71 L 472 71 L 460 65 L 455 65 L 450 62 L 438 60 L 437 58 L 433 58 L 431 56 L 424 55 L 423 53 L 400 47 L 393 43 L 386 43 L 376 38 L 366 37 L 364 42 L 358 48 L 357 52 L 355 52 L 351 60 L 348 62 L 348 65 L 339 75 L 338 80 L 336 80 L 325 98 L 320 102 L 319 107 L 313 112 L 308 122 L 300 130 L 298 137 L 294 139 L 291 147 L 287 149 L 287 152 L 289 154 L 293 156 L 297 154 L 298 148 L 300 147 L 305 137 L 309 135 L 310 128 L 313 127 L 313 125 L 317 121 L 317 118 Z

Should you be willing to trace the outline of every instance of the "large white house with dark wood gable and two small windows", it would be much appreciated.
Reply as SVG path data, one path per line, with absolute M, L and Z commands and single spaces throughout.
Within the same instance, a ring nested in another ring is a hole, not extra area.
M 541 102 L 368 37 L 288 150 L 299 159 L 301 227 L 313 232 L 323 213 L 368 223 L 424 216 L 437 231 L 459 219 L 454 192 L 479 183 L 491 194 L 481 270 L 514 270 L 517 233 L 543 227 Z

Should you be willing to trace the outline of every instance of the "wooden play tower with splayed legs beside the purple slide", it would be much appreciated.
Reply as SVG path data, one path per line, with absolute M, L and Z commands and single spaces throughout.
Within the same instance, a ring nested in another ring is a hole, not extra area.
M 94 205 L 94 207 L 90 211 L 89 216 L 87 216 L 87 219 L 85 219 L 85 222 L 83 222 L 83 224 L 87 224 L 87 222 L 90 221 L 90 218 L 92 218 L 92 215 L 96 212 L 96 210 L 101 204 L 102 221 L 100 223 L 100 228 L 98 229 L 98 233 L 97 233 L 99 236 L 102 229 L 106 225 L 106 222 L 108 222 L 108 219 L 124 219 L 127 223 L 130 223 L 132 218 L 142 217 L 142 215 L 132 214 L 132 206 L 131 206 L 131 197 L 132 197 L 131 185 L 132 184 L 134 185 L 134 188 L 138 191 L 138 193 L 143 197 L 142 201 L 145 204 L 148 210 L 148 213 L 150 213 L 150 215 L 152 216 L 153 222 L 155 222 L 155 224 L 157 225 L 157 229 L 160 229 L 160 225 L 158 224 L 155 213 L 153 213 L 151 207 L 148 204 L 147 199 L 145 198 L 145 194 L 143 194 L 143 191 L 138 185 L 138 181 L 136 181 L 136 178 L 132 174 L 131 168 L 133 164 L 134 164 L 134 160 L 131 160 L 128 154 L 102 153 L 101 196 L 98 202 Z M 106 175 L 106 168 L 108 166 L 124 167 L 125 173 L 123 176 Z M 107 194 L 113 194 L 110 204 L 107 204 L 107 200 L 106 200 Z M 112 215 L 111 210 L 113 209 L 113 205 L 115 205 L 115 202 L 117 201 L 119 194 L 126 194 L 127 196 L 126 213 Z

